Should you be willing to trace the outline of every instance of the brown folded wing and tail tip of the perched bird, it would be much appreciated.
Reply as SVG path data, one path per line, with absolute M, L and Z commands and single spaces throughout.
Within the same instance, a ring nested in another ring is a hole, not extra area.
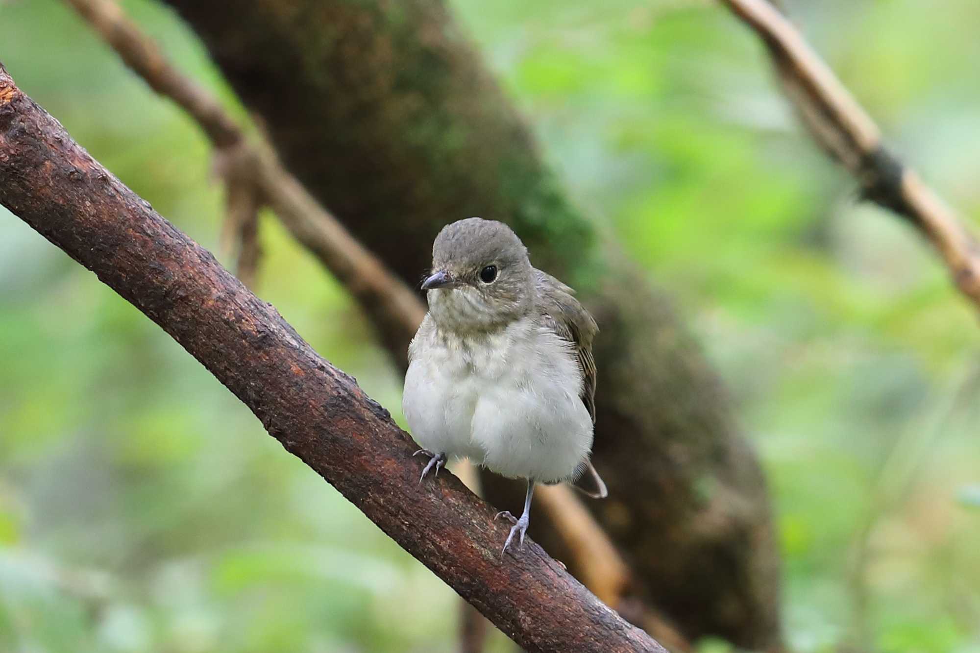
M 545 324 L 559 337 L 569 342 L 575 351 L 578 367 L 582 371 L 582 403 L 589 411 L 592 424 L 596 423 L 596 361 L 592 357 L 592 339 L 599 332 L 599 325 L 578 300 L 575 291 L 554 276 L 535 270 L 538 289 L 538 309 Z M 609 494 L 606 483 L 589 460 L 582 461 L 576 471 L 576 487 L 589 496 L 602 498 Z

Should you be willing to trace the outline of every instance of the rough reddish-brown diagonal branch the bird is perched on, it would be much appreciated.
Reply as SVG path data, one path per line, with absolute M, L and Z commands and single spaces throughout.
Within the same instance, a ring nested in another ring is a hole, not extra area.
M 163 327 L 283 447 L 530 651 L 663 651 L 444 475 L 353 378 L 77 145 L 0 65 L 0 203 Z

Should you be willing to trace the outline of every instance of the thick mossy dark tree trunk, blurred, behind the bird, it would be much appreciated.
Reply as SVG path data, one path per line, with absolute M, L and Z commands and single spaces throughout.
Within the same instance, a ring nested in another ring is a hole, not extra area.
M 579 289 L 602 328 L 595 461 L 611 493 L 590 510 L 688 637 L 778 648 L 764 480 L 717 378 L 662 295 L 569 204 L 444 4 L 168 1 L 287 167 L 399 275 L 417 281 L 439 228 L 481 216 Z M 486 485 L 495 502 L 506 489 Z

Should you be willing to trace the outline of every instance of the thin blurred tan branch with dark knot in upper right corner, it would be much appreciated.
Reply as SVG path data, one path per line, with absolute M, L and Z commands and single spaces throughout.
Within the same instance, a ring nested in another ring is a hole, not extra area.
M 765 43 L 810 134 L 858 179 L 863 196 L 906 218 L 939 252 L 980 309 L 980 248 L 968 228 L 882 143 L 881 131 L 796 29 L 766 0 L 721 0 Z

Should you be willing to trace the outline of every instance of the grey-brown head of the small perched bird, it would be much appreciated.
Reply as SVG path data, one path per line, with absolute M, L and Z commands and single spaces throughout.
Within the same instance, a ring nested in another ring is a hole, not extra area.
M 490 331 L 534 306 L 534 269 L 510 226 L 467 218 L 444 226 L 432 244 L 432 271 L 422 281 L 438 326 Z

